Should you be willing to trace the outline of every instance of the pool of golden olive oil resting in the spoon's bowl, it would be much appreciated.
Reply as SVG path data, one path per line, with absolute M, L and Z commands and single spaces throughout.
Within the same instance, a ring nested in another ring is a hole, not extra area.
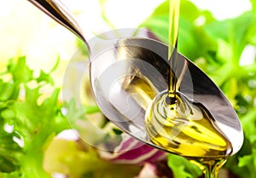
M 200 103 L 177 92 L 177 102 L 166 103 L 167 92 L 156 97 L 146 112 L 148 138 L 167 151 L 190 158 L 226 157 L 230 141 L 214 125 L 214 118 Z

